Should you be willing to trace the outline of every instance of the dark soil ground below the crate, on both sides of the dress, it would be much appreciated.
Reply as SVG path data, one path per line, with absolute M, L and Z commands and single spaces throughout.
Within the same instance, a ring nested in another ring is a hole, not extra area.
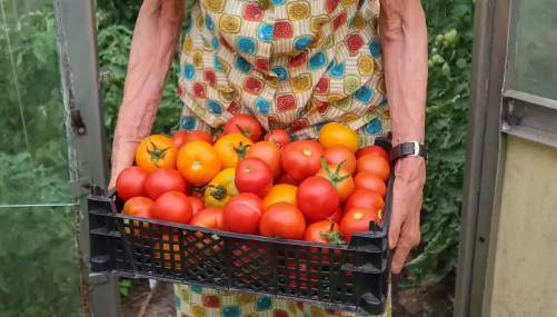
M 394 317 L 450 317 L 452 316 L 454 284 L 434 284 L 426 281 L 418 288 L 400 287 L 401 276 L 392 279 Z M 151 289 L 147 280 L 133 280 L 128 296 L 122 298 L 122 317 L 176 317 L 173 287 L 159 283 L 147 300 Z M 145 314 L 139 316 L 141 306 L 147 305 Z

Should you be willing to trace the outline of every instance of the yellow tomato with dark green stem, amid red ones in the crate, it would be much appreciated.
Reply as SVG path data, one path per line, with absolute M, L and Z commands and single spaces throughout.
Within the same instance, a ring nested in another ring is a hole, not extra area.
M 230 198 L 238 195 L 235 185 L 236 168 L 219 172 L 205 189 L 205 207 L 225 208 Z

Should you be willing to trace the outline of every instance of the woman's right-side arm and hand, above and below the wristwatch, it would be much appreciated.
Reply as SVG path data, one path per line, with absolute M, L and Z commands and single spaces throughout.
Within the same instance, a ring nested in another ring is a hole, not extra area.
M 385 61 L 387 100 L 394 146 L 424 143 L 427 96 L 427 29 L 420 0 L 380 0 L 379 37 Z M 419 214 L 426 164 L 407 157 L 395 167 L 389 246 L 395 248 L 392 271 L 398 274 L 410 249 L 420 241 Z

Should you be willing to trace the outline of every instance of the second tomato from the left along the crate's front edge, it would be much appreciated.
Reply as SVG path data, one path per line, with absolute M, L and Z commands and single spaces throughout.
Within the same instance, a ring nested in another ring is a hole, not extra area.
M 180 191 L 168 191 L 155 201 L 152 216 L 162 221 L 188 224 L 192 217 L 191 202 Z

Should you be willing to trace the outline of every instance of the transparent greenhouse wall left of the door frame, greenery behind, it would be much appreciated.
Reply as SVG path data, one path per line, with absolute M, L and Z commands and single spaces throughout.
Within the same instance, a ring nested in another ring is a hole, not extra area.
M 0 0 L 0 316 L 80 316 L 52 3 Z

